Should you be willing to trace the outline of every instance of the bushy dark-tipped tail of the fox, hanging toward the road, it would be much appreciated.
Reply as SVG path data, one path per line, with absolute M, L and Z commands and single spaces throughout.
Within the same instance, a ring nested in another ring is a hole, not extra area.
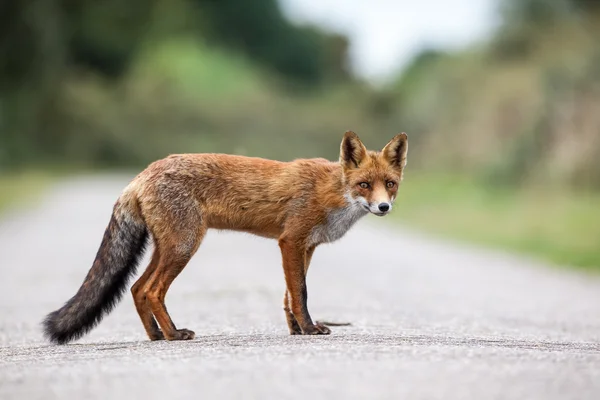
M 144 221 L 120 202 L 83 284 L 60 309 L 43 322 L 46 337 L 64 344 L 94 328 L 123 296 L 144 253 L 148 231 Z

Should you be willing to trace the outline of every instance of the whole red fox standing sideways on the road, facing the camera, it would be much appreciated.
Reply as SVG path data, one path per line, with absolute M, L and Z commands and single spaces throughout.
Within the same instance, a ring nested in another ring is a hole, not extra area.
M 149 236 L 154 253 L 131 288 L 150 340 L 189 340 L 165 307 L 165 295 L 210 228 L 277 239 L 287 290 L 283 309 L 292 335 L 327 335 L 306 305 L 306 273 L 315 248 L 340 239 L 368 213 L 388 214 L 406 166 L 408 138 L 380 152 L 345 133 L 339 162 L 291 162 L 227 154 L 178 154 L 156 161 L 114 205 L 94 263 L 77 293 L 43 322 L 59 344 L 96 326 L 122 297 Z

